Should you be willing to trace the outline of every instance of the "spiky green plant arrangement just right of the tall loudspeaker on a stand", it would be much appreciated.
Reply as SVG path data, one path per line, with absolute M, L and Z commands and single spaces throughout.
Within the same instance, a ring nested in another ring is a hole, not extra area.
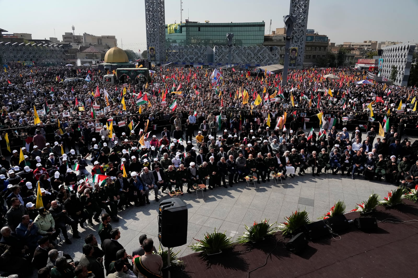
M 219 250 L 224 250 L 232 247 L 232 240 L 228 238 L 224 233 L 215 231 L 213 233 L 206 233 L 204 239 L 196 239 L 197 243 L 189 246 L 194 252 L 203 252 L 205 254 L 219 253 Z

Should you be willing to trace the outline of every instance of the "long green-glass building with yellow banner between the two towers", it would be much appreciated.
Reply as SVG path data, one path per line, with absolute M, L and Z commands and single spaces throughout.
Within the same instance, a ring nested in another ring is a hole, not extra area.
M 181 33 L 168 34 L 166 30 L 166 48 L 170 45 L 203 45 L 213 48 L 227 46 L 227 33 L 233 33 L 234 46 L 262 46 L 264 39 L 265 22 L 247 23 L 205 23 L 186 20 L 181 23 Z

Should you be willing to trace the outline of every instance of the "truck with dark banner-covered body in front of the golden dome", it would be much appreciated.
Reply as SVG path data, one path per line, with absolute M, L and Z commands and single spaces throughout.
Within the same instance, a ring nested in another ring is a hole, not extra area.
M 133 83 L 145 84 L 148 82 L 148 68 L 117 68 L 115 74 L 106 74 L 103 76 L 103 84 L 115 83 Z

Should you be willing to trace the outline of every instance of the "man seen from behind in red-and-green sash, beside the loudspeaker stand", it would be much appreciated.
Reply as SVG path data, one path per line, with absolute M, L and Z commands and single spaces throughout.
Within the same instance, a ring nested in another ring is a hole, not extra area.
M 160 255 L 153 254 L 154 242 L 151 238 L 147 238 L 143 242 L 145 254 L 133 259 L 133 272 L 138 278 L 150 277 L 149 273 L 163 276 L 161 269 L 163 268 L 163 259 Z

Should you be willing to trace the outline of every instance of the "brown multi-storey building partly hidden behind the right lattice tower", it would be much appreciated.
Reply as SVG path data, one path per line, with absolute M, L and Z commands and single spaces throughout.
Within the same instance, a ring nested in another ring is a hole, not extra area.
M 270 35 L 264 35 L 263 45 L 265 46 L 277 46 L 280 48 L 280 56 L 284 58 L 285 50 L 285 28 L 276 28 Z M 328 51 L 329 39 L 326 35 L 319 35 L 315 33 L 313 29 L 306 30 L 305 37 L 305 54 L 303 60 L 304 67 L 311 67 L 316 65 L 317 61 L 321 58 L 325 58 Z

